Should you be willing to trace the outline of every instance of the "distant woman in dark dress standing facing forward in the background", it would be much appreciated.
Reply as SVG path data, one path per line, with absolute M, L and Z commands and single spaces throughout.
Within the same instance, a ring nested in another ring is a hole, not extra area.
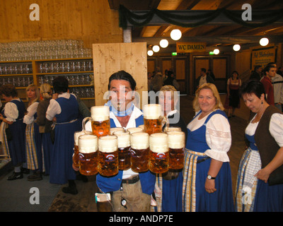
M 228 109 L 228 118 L 235 117 L 235 109 L 240 108 L 240 97 L 238 90 L 242 81 L 238 78 L 238 72 L 233 71 L 232 76 L 227 81 L 227 96 L 224 107 Z

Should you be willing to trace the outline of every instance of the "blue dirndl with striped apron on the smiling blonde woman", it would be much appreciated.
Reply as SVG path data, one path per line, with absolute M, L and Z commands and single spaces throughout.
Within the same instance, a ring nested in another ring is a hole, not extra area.
M 211 162 L 211 158 L 204 154 L 206 150 L 210 149 L 205 138 L 206 124 L 214 114 L 222 114 L 226 117 L 223 111 L 216 110 L 209 114 L 199 129 L 195 131 L 187 129 L 185 166 L 183 169 L 183 211 L 233 211 L 233 190 L 229 162 L 223 162 L 217 174 L 215 179 L 216 191 L 209 194 L 204 189 Z

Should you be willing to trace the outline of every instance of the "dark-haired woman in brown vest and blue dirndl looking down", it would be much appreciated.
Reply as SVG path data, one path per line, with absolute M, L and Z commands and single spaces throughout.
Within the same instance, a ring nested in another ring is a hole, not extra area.
M 283 211 L 283 114 L 267 104 L 260 81 L 243 83 L 241 96 L 250 109 L 236 181 L 236 211 Z

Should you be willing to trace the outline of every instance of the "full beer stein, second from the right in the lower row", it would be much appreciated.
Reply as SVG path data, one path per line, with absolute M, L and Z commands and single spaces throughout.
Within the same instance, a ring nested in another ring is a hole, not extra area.
M 149 170 L 162 174 L 169 169 L 168 135 L 152 133 L 149 136 Z

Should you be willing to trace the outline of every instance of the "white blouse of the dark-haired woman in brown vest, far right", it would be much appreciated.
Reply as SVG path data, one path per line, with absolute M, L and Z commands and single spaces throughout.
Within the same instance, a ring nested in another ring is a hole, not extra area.
M 255 117 L 253 117 L 254 119 Z M 256 123 L 250 123 L 248 124 L 246 128 L 246 134 L 249 136 L 253 136 L 255 134 L 255 130 L 258 128 L 258 122 Z M 275 138 L 275 141 L 279 145 L 279 147 L 283 147 L 283 114 L 275 113 L 272 114 L 272 117 L 270 119 L 270 134 Z

